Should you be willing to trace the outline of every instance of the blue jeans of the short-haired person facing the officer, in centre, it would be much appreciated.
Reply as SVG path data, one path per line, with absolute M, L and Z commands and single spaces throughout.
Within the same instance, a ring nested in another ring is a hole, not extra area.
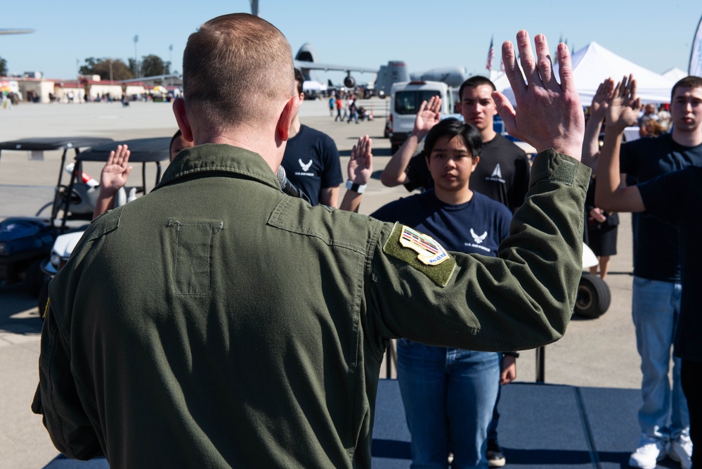
M 487 468 L 488 428 L 498 397 L 500 354 L 401 339 L 397 374 L 412 435 L 412 468 Z

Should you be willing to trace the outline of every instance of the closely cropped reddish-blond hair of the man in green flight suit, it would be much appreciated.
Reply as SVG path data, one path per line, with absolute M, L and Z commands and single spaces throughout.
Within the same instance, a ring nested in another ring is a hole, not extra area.
M 220 128 L 271 119 L 294 95 L 293 73 L 292 50 L 278 28 L 247 13 L 218 16 L 188 38 L 186 110 Z

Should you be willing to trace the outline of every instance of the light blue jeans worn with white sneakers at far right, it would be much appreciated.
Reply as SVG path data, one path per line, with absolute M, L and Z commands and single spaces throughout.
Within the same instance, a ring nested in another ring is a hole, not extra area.
M 639 425 L 642 433 L 651 438 L 675 439 L 681 434 L 689 435 L 690 431 L 677 357 L 672 360 L 672 389 L 668 379 L 681 295 L 680 283 L 634 277 L 632 318 L 641 356 L 644 401 L 639 409 Z

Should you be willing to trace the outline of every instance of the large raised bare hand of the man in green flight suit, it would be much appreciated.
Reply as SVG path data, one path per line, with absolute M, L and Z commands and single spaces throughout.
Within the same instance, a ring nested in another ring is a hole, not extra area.
M 526 83 L 510 41 L 502 44 L 502 61 L 514 91 L 517 111 L 505 95 L 493 92 L 495 105 L 507 131 L 531 143 L 538 151 L 552 147 L 558 153 L 580 160 L 585 117 L 573 82 L 573 65 L 568 47 L 558 45 L 559 84 L 553 74 L 546 37 L 543 34 L 535 37 L 536 58 L 531 51 L 528 32 L 521 30 L 516 34 L 516 40 Z

